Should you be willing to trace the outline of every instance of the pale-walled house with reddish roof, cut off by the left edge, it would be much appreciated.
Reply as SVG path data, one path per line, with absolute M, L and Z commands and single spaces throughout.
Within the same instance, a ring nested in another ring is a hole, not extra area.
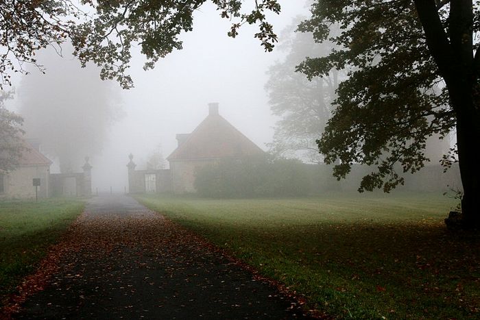
M 38 149 L 25 142 L 19 167 L 0 175 L 0 197 L 34 198 L 36 193 L 38 197 L 49 197 L 51 163 Z

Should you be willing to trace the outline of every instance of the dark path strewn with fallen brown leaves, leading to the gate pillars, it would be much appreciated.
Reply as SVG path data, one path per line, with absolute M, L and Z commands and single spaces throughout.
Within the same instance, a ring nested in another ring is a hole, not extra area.
M 93 197 L 17 319 L 296 319 L 289 297 L 131 197 Z

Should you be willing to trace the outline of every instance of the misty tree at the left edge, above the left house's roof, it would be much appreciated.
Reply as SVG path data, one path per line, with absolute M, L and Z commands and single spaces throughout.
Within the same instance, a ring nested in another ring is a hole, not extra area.
M 12 99 L 13 91 L 0 91 L 0 175 L 14 170 L 22 155 L 23 119 L 5 108 L 4 101 Z

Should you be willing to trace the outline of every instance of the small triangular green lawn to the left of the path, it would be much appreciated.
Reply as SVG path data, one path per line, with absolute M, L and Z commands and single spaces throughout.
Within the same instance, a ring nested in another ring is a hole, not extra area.
M 84 201 L 77 199 L 0 201 L 0 297 L 34 271 L 83 208 Z

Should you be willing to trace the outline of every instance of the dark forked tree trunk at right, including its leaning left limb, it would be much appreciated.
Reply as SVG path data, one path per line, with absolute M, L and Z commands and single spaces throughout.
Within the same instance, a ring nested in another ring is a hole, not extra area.
M 461 214 L 448 226 L 480 230 L 480 57 L 473 56 L 472 0 L 451 0 L 448 36 L 435 0 L 413 0 L 429 51 L 446 82 L 457 120 L 457 150 L 464 196 Z

